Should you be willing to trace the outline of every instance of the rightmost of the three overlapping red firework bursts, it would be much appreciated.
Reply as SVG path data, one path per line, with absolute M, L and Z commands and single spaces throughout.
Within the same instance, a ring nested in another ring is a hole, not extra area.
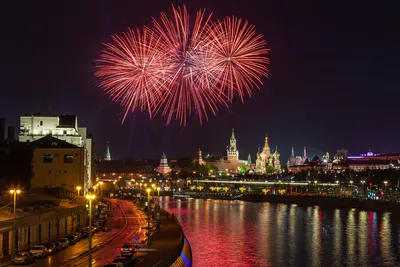
M 245 92 L 251 96 L 251 90 L 262 84 L 261 78 L 268 76 L 266 42 L 253 25 L 236 17 L 218 21 L 209 32 L 213 36 L 212 71 L 219 88 L 229 100 L 237 92 L 243 102 Z

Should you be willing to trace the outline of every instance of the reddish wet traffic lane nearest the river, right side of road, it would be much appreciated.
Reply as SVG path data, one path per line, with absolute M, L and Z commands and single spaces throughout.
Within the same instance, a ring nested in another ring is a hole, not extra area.
M 110 263 L 114 260 L 116 256 L 121 255 L 121 246 L 127 242 L 134 242 L 136 233 L 140 231 L 141 227 L 147 225 L 145 216 L 143 216 L 141 211 L 138 211 L 136 207 L 128 201 L 121 201 L 123 208 L 125 209 L 127 216 L 127 227 L 121 235 L 114 238 L 109 244 L 100 248 L 92 254 L 92 265 L 94 267 L 103 266 L 106 263 Z M 143 232 L 143 231 L 141 231 Z M 88 257 L 83 257 L 77 261 L 74 261 L 71 266 L 74 267 L 86 267 Z

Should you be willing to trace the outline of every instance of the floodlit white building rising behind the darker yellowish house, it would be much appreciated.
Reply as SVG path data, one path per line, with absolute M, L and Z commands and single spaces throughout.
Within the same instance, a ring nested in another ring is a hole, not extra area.
M 86 128 L 78 127 L 77 116 L 45 116 L 32 114 L 20 117 L 20 131 L 18 135 L 18 140 L 20 142 L 32 142 L 49 134 L 70 144 L 86 149 L 86 182 L 84 188 L 86 193 L 92 183 L 92 162 L 94 159 L 93 140 L 87 136 Z

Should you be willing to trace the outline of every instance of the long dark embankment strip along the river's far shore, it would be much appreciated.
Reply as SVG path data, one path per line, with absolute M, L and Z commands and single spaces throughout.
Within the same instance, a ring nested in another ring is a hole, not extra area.
M 299 206 L 320 206 L 336 209 L 359 209 L 376 212 L 393 212 L 400 214 L 400 203 L 364 200 L 358 198 L 342 198 L 327 196 L 292 196 L 292 195 L 260 195 L 260 194 L 230 194 L 230 193 L 196 193 L 181 192 L 177 198 L 191 197 L 202 199 L 243 200 L 247 202 L 269 202 L 274 204 L 297 204 Z

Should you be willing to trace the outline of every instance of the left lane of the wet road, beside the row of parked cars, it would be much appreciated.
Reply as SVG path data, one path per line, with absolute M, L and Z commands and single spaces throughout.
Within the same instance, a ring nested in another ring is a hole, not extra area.
M 122 216 L 122 211 L 120 208 L 117 206 L 117 202 L 112 203 L 112 207 L 114 207 L 114 212 L 118 216 Z M 96 247 L 97 245 L 100 245 L 106 241 L 108 241 L 110 238 L 112 238 L 113 235 L 118 233 L 120 231 L 119 228 L 110 228 L 112 226 L 112 223 L 114 220 L 110 220 L 110 222 L 107 221 L 107 228 L 111 229 L 111 231 L 108 232 L 98 232 L 92 236 L 92 247 Z M 111 224 L 111 226 L 110 226 Z M 63 249 L 59 251 L 58 253 L 48 256 L 47 258 L 44 259 L 36 259 L 36 262 L 31 264 L 30 266 L 43 266 L 43 267 L 53 267 L 53 266 L 61 266 L 68 261 L 70 261 L 73 258 L 76 258 L 80 254 L 88 251 L 89 249 L 89 241 L 88 238 L 82 239 L 80 242 L 77 242 L 75 245 L 69 246 L 66 249 Z

